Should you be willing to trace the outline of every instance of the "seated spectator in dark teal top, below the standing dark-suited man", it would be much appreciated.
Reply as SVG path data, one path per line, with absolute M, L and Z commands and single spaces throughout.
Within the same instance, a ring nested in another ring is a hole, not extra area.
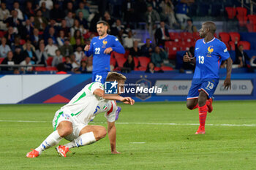
M 165 50 L 159 46 L 155 47 L 154 53 L 152 53 L 151 61 L 155 66 L 165 66 L 164 61 L 167 60 L 168 55 Z

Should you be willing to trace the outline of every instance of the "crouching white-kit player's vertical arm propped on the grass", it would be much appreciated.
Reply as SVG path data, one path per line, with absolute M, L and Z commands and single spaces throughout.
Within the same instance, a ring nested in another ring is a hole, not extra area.
M 116 125 L 115 122 L 108 122 L 108 139 L 110 142 L 111 153 L 118 154 L 116 150 Z

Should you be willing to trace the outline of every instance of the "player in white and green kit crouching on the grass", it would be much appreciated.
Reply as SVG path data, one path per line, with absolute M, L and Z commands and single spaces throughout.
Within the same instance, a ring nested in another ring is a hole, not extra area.
M 109 72 L 107 81 L 118 82 L 119 90 L 124 90 L 124 81 L 127 78 L 123 74 Z M 68 144 L 56 147 L 59 155 L 66 157 L 67 152 L 72 147 L 81 147 L 97 142 L 106 136 L 107 131 L 101 125 L 88 125 L 91 118 L 100 112 L 105 112 L 108 120 L 108 136 L 110 140 L 111 152 L 119 153 L 116 150 L 116 101 L 125 104 L 134 104 L 135 101 L 130 97 L 106 96 L 104 85 L 100 82 L 92 82 L 86 85 L 68 104 L 59 109 L 53 118 L 54 131 L 36 149 L 28 152 L 26 157 L 35 158 L 43 150 L 58 144 L 62 138 L 69 140 Z

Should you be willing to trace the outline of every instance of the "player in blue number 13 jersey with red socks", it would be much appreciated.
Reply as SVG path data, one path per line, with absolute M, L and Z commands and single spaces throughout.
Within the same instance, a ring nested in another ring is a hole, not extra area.
M 195 134 L 205 134 L 207 112 L 211 112 L 212 96 L 219 83 L 219 66 L 227 61 L 227 77 L 224 81 L 225 89 L 231 88 L 232 59 L 227 52 L 226 45 L 214 37 L 216 25 L 208 21 L 200 29 L 200 37 L 195 43 L 195 57 L 190 58 L 186 53 L 184 62 L 196 64 L 192 85 L 187 96 L 187 108 L 199 110 L 199 128 Z

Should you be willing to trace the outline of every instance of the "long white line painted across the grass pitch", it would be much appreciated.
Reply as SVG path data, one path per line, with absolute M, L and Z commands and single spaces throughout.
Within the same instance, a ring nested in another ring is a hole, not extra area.
M 0 120 L 0 122 L 15 122 L 15 123 L 52 123 L 50 121 L 34 121 L 34 120 Z M 90 122 L 92 124 L 106 124 L 107 122 Z M 116 122 L 119 125 L 199 125 L 198 123 L 122 123 Z M 237 126 L 237 127 L 256 127 L 256 124 L 206 124 L 210 126 Z

